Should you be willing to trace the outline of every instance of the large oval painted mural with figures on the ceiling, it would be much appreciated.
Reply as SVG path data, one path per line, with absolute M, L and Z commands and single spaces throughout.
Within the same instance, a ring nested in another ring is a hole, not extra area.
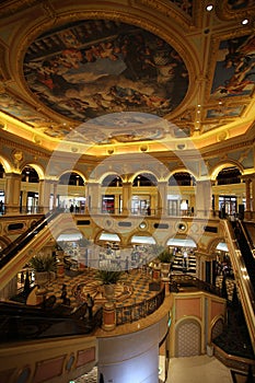
M 103 20 L 39 36 L 27 49 L 24 74 L 42 103 L 80 121 L 123 111 L 163 117 L 188 89 L 173 47 L 140 27 Z

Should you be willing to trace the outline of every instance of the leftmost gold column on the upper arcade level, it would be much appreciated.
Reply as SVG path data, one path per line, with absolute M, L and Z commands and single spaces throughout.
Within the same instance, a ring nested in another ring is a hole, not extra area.
M 20 213 L 21 174 L 5 173 L 5 214 Z

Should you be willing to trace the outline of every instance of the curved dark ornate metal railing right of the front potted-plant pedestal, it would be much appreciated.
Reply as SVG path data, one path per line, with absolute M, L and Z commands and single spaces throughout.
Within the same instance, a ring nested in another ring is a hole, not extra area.
M 149 300 L 116 307 L 116 325 L 139 321 L 155 312 L 164 302 L 165 288 L 161 287 L 159 293 Z

